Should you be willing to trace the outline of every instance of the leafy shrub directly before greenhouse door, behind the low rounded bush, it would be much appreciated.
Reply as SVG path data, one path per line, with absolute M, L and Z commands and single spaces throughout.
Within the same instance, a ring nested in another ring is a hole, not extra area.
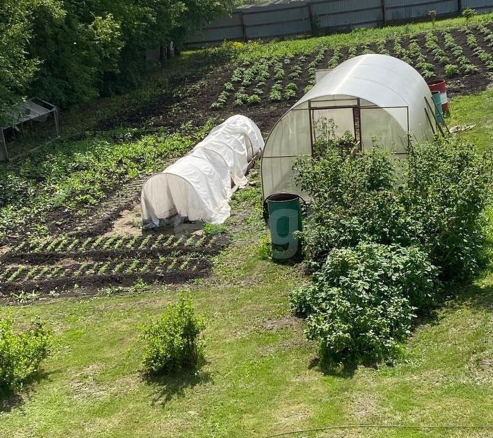
M 323 151 L 323 146 L 317 146 Z M 393 193 L 394 175 L 385 151 L 362 156 L 349 150 L 327 149 L 315 159 L 295 165 L 296 181 L 312 198 L 311 215 L 301 238 L 313 262 L 323 262 L 332 248 L 362 241 L 390 244 L 407 240 L 409 224 Z

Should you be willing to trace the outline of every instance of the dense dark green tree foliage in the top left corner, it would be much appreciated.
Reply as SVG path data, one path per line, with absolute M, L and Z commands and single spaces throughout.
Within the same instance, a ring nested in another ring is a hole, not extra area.
M 147 49 L 178 46 L 233 0 L 0 0 L 0 109 L 62 107 L 136 85 Z

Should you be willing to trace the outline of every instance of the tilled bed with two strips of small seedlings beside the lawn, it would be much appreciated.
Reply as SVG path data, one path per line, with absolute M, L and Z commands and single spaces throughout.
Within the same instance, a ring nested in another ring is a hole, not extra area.
M 112 285 L 183 283 L 208 276 L 227 237 L 165 235 L 51 238 L 23 242 L 0 257 L 0 297 L 18 292 L 71 294 Z

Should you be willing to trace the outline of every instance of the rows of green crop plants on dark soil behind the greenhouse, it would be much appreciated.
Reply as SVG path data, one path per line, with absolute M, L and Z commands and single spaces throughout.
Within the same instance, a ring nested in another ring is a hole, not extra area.
M 480 24 L 468 25 L 458 31 L 470 36 L 488 32 L 490 29 Z M 418 42 L 420 36 L 425 38 L 424 47 Z M 490 38 L 488 34 L 485 36 Z M 464 49 L 457 44 L 449 31 L 431 31 L 410 38 L 394 35 L 388 40 L 377 40 L 372 44 L 352 44 L 348 47 L 321 45 L 307 49 L 297 57 L 293 54 L 279 57 L 264 55 L 258 60 L 244 61 L 242 66 L 233 70 L 223 92 L 212 103 L 211 108 L 220 110 L 231 102 L 234 105 L 258 105 L 267 103 L 266 101 L 292 101 L 298 95 L 298 90 L 307 92 L 314 86 L 317 68 L 335 68 L 344 60 L 366 53 L 399 57 L 414 66 L 427 81 L 436 77 L 435 66 L 438 65 L 443 66 L 446 77 L 470 75 L 478 71 L 478 66 L 464 54 Z M 486 54 L 480 49 L 475 51 L 475 55 L 490 70 L 490 60 Z M 434 60 L 435 64 L 429 60 Z M 301 83 L 305 72 L 308 73 L 307 82 Z

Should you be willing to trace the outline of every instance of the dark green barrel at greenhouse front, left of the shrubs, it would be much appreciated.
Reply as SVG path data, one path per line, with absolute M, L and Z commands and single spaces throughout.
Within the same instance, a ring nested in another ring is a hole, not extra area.
M 302 229 L 301 203 L 296 194 L 272 194 L 264 203 L 264 216 L 270 228 L 273 259 L 301 256 L 301 242 L 294 234 Z

